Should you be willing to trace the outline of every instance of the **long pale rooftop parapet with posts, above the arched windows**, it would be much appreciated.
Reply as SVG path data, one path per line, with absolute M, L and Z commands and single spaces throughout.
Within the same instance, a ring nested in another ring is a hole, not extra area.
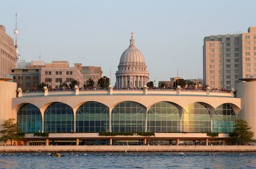
M 22 91 L 21 88 L 18 88 L 18 97 L 22 96 L 31 96 L 31 95 L 62 95 L 62 94 L 171 94 L 171 95 L 213 95 L 220 97 L 234 97 L 235 90 L 211 90 L 209 87 L 205 90 L 195 90 L 195 89 L 183 89 L 183 88 L 78 88 L 77 86 L 74 89 L 65 88 L 65 89 L 48 89 L 46 87 L 43 90 L 32 90 L 32 91 Z M 60 93 L 58 93 L 60 92 Z M 62 93 L 61 93 L 62 92 Z

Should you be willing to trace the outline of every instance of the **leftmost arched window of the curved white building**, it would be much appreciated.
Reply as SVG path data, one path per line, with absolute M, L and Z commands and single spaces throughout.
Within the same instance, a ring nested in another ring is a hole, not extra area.
M 24 104 L 18 109 L 17 123 L 20 132 L 42 132 L 42 114 L 33 104 Z

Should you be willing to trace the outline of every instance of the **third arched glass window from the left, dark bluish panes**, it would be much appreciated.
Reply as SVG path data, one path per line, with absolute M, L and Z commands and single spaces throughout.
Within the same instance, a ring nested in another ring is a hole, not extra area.
M 107 106 L 98 102 L 87 102 L 76 111 L 76 132 L 107 132 L 109 119 L 110 113 Z

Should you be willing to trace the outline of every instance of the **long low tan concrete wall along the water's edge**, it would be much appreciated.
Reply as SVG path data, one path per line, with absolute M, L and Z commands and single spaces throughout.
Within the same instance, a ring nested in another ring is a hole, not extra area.
M 251 145 L 0 146 L 0 152 L 256 152 Z

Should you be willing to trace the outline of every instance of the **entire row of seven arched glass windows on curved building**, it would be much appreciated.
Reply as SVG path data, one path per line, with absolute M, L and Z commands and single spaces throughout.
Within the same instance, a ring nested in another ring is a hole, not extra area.
M 233 132 L 236 113 L 228 104 L 221 104 L 212 113 L 204 103 L 192 103 L 182 110 L 175 104 L 162 101 L 146 108 L 139 103 L 124 101 L 117 104 L 111 113 L 112 132 L 154 133 L 230 133 Z M 241 114 L 241 113 L 239 113 Z M 17 111 L 17 123 L 21 132 L 48 133 L 74 132 L 73 109 L 64 103 L 53 103 L 43 115 L 33 104 L 24 104 Z M 110 127 L 109 108 L 102 103 L 89 101 L 76 111 L 77 133 L 108 132 Z

